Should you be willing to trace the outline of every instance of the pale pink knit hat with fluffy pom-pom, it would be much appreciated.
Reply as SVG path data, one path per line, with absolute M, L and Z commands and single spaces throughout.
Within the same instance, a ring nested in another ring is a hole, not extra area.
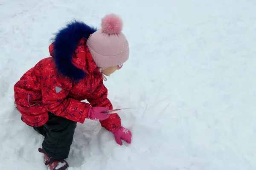
M 87 46 L 99 70 L 120 65 L 129 58 L 129 44 L 122 34 L 122 19 L 115 14 L 102 18 L 102 29 L 94 32 Z

